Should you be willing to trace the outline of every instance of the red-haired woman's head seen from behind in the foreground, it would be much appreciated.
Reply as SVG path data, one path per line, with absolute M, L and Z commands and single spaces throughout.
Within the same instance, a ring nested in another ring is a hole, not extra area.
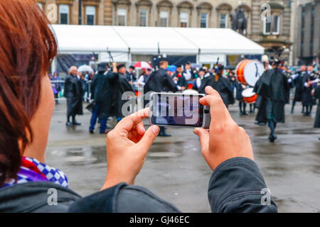
M 0 1 L 0 15 L 1 186 L 6 179 L 16 178 L 21 155 L 35 142 L 41 106 L 53 109 L 46 72 L 57 44 L 34 0 Z

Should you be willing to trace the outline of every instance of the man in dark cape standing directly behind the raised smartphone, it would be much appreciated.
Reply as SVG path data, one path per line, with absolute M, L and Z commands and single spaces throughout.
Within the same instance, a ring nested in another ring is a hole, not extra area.
M 144 85 L 144 93 L 147 92 L 178 92 L 176 83 L 166 72 L 169 62 L 165 58 L 159 62 L 159 70 L 149 76 L 148 81 Z M 158 136 L 171 136 L 166 133 L 166 128 L 160 127 Z

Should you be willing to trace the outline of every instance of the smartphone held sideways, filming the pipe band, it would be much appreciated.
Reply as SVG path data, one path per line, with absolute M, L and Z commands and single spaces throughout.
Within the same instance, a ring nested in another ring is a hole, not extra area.
M 210 107 L 200 104 L 204 94 L 150 94 L 150 124 L 190 128 L 209 128 Z

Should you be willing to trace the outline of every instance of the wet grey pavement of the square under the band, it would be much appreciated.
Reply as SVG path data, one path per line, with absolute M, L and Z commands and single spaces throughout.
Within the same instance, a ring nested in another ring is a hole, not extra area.
M 84 105 L 85 106 L 85 105 Z M 315 107 L 315 106 L 314 106 Z M 235 121 L 250 135 L 255 162 L 265 177 L 279 212 L 320 211 L 320 128 L 312 117 L 289 114 L 277 126 L 278 139 L 269 143 L 267 126 L 254 124 L 255 114 L 239 116 L 231 106 Z M 97 192 L 106 174 L 105 135 L 88 132 L 90 112 L 77 121 L 82 126 L 65 127 L 65 101 L 55 107 L 51 121 L 46 162 L 63 170 L 69 187 L 82 196 Z M 110 121 L 110 126 L 114 121 Z M 147 123 L 147 121 L 146 121 Z M 156 138 L 136 184 L 150 189 L 184 212 L 210 212 L 207 190 L 211 171 L 201 156 L 200 144 L 191 128 L 169 128 L 170 138 Z

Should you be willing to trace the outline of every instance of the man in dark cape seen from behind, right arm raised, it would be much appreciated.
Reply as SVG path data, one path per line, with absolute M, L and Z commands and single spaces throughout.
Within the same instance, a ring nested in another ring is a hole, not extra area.
M 112 108 L 112 87 L 110 84 L 116 80 L 116 70 L 106 72 L 107 64 L 97 65 L 97 74 L 91 84 L 91 99 L 94 100 L 94 107 L 90 120 L 89 132 L 94 133 L 97 118 L 100 119 L 100 134 L 107 133 L 107 119 L 111 115 Z

